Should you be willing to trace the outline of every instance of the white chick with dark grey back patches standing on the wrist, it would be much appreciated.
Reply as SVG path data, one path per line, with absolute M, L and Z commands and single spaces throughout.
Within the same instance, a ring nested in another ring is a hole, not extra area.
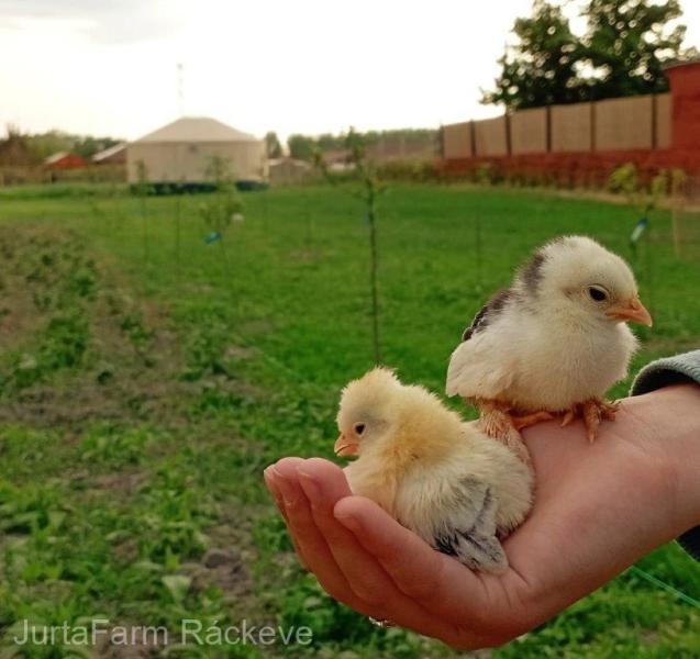
M 627 264 L 587 237 L 552 241 L 464 332 L 446 393 L 474 403 L 484 431 L 525 459 L 519 431 L 553 414 L 564 425 L 582 416 L 592 442 L 614 418 L 603 396 L 637 346 L 626 321 L 652 325 Z

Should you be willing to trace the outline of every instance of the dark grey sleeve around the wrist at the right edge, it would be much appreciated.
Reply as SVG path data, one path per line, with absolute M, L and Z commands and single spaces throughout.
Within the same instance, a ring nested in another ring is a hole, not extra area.
M 640 395 L 681 382 L 700 384 L 700 350 L 653 361 L 640 371 L 630 393 L 631 395 Z M 700 410 L 698 412 L 700 413 Z M 700 560 L 700 526 L 681 535 L 678 543 L 690 556 Z

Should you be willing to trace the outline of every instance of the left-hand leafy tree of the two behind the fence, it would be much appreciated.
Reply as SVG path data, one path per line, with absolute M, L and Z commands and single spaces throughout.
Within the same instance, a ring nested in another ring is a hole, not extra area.
M 501 75 L 495 90 L 482 90 L 482 103 L 518 110 L 586 99 L 577 74 L 580 43 L 560 7 L 534 0 L 532 16 L 518 19 L 513 32 L 518 43 L 499 59 Z

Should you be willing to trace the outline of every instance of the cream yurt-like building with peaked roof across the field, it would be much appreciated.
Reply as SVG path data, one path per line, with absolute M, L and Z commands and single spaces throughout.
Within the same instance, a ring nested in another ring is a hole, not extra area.
M 185 116 L 126 146 L 131 183 L 138 181 L 140 169 L 151 183 L 210 182 L 215 160 L 235 181 L 267 178 L 265 142 L 214 119 Z

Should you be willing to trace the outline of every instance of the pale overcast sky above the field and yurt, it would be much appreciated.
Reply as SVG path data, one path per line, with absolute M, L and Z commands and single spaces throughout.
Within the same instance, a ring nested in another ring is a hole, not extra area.
M 685 0 L 700 45 L 700 2 Z M 531 0 L 0 0 L 0 133 L 136 138 L 180 114 L 262 136 L 484 118 Z M 576 16 L 576 7 L 568 10 Z M 581 27 L 580 20 L 574 27 Z M 184 102 L 177 64 L 182 64 Z

